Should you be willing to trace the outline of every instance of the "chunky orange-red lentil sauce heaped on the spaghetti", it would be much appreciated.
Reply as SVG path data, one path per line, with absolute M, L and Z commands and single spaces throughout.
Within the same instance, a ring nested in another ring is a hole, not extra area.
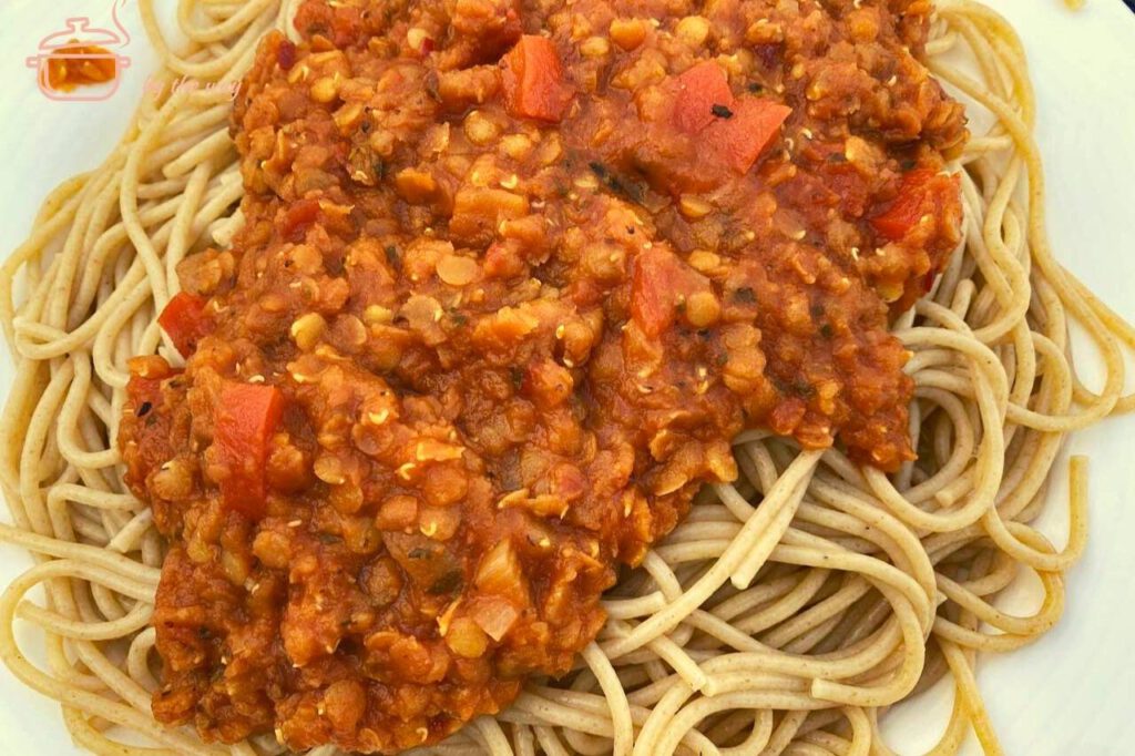
M 889 317 L 959 242 L 930 3 L 308 0 L 234 116 L 119 444 L 169 539 L 153 712 L 436 742 L 563 674 L 734 435 L 914 459 Z M 577 42 L 586 17 L 608 37 Z

